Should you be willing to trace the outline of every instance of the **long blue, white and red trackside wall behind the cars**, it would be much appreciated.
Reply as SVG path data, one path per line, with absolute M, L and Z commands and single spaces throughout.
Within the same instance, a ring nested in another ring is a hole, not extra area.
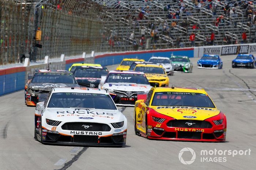
M 78 56 L 75 59 L 68 59 L 58 62 L 45 62 L 27 67 L 14 67 L 0 70 L 0 95 L 22 90 L 29 75 L 34 74 L 35 70 L 39 69 L 57 69 L 68 70 L 73 63 L 98 63 L 102 66 L 109 66 L 118 64 L 124 58 L 139 58 L 148 60 L 152 56 L 165 56 L 182 55 L 189 56 L 190 58 L 199 58 L 203 54 L 215 54 L 225 58 L 226 55 L 237 54 L 256 54 L 256 44 L 243 44 L 243 45 L 229 45 L 229 46 L 202 46 L 194 48 L 180 48 L 180 49 L 166 49 L 166 50 L 147 50 L 147 51 L 132 51 L 132 52 L 119 52 L 98 54 L 94 56 L 85 54 Z

